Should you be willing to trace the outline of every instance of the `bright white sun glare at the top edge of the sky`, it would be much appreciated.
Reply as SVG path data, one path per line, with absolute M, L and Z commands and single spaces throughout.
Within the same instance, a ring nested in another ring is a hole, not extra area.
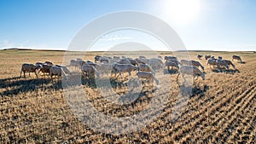
M 200 12 L 200 0 L 165 0 L 162 14 L 177 23 L 189 23 Z

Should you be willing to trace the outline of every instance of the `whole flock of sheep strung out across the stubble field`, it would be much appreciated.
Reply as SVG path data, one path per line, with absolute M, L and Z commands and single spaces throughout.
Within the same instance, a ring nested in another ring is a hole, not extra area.
M 197 58 L 201 60 L 203 55 L 197 55 Z M 211 55 L 205 55 L 207 60 L 207 65 L 217 66 L 218 69 L 229 69 L 230 65 L 235 68 L 235 65 L 230 60 L 223 60 L 221 56 L 218 59 Z M 238 55 L 233 55 L 232 60 L 240 60 L 241 57 Z M 165 61 L 165 62 L 163 62 Z M 165 56 L 164 59 L 159 55 L 154 58 L 146 58 L 140 55 L 136 59 L 127 58 L 125 56 L 95 56 L 95 61 L 83 59 L 70 60 L 69 66 L 54 65 L 50 61 L 45 61 L 44 63 L 37 62 L 33 64 L 23 64 L 21 66 L 20 77 L 23 72 L 24 78 L 26 77 L 26 72 L 34 72 L 38 78 L 38 73 L 44 73 L 49 75 L 50 78 L 53 76 L 61 78 L 66 78 L 68 80 L 69 75 L 73 75 L 70 71 L 71 68 L 74 71 L 82 73 L 83 78 L 100 78 L 101 75 L 110 75 L 114 78 L 124 78 L 124 73 L 128 73 L 131 76 L 131 72 L 137 72 L 137 78 L 146 80 L 150 84 L 159 84 L 159 80 L 155 78 L 155 72 L 160 72 L 160 70 L 167 67 L 168 71 L 170 68 L 176 67 L 178 75 L 192 75 L 193 77 L 201 77 L 205 79 L 204 66 L 201 65 L 199 61 L 196 60 L 177 60 L 175 56 Z M 201 69 L 201 70 L 200 70 Z

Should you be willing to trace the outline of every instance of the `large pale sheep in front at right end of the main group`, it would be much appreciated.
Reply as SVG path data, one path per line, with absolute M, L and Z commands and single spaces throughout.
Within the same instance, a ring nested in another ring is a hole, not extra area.
M 205 80 L 205 72 L 201 72 L 196 66 L 180 66 L 180 72 L 177 74 L 177 78 L 179 77 L 180 73 L 182 73 L 183 75 L 183 79 L 184 79 L 184 82 L 183 84 L 185 83 L 186 79 L 184 77 L 184 74 L 186 75 L 192 75 L 193 78 L 196 77 L 196 79 L 198 77 L 201 77 L 202 80 Z

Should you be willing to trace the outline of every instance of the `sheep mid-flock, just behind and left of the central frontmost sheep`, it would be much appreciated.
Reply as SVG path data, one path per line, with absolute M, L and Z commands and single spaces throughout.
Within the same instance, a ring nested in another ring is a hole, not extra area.
M 119 72 L 120 77 L 122 77 L 121 72 L 128 72 L 129 76 L 131 76 L 131 72 L 135 70 L 139 71 L 139 67 L 133 66 L 131 64 L 118 64 L 118 63 L 113 64 L 113 71 L 115 71 L 115 77 L 116 77 L 116 72 Z

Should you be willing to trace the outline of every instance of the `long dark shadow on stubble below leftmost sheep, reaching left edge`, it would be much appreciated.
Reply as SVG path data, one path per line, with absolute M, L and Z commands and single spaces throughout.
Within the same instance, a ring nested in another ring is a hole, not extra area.
M 63 78 L 64 79 L 64 78 Z M 79 84 L 87 85 L 90 88 L 96 88 L 94 78 L 82 78 L 79 75 L 68 77 L 69 80 L 61 80 L 54 78 L 4 78 L 0 79 L 0 96 L 14 96 L 19 93 L 37 91 L 38 89 L 63 89 L 67 86 L 75 86 Z M 62 83 L 63 82 L 63 83 Z

